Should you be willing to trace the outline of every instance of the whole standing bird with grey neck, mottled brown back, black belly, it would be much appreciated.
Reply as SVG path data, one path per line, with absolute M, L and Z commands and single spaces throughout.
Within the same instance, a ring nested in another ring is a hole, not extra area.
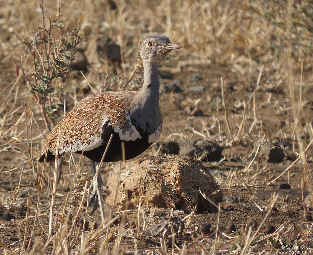
M 139 52 L 144 70 L 142 89 L 139 92 L 105 91 L 85 97 L 53 128 L 44 143 L 39 162 L 54 161 L 56 153 L 58 159 L 74 152 L 90 159 L 95 178 L 89 200 L 90 215 L 100 205 L 102 221 L 105 217 L 103 180 L 96 164 L 99 165 L 103 156 L 103 162 L 132 159 L 159 138 L 163 123 L 159 65 L 173 49 L 180 48 L 166 36 L 144 39 Z

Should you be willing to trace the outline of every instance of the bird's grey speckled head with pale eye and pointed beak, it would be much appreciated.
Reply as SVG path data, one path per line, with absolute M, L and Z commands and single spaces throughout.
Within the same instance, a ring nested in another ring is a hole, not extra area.
M 172 49 L 180 48 L 182 47 L 172 44 L 166 36 L 149 36 L 141 44 L 140 56 L 144 61 L 161 62 Z

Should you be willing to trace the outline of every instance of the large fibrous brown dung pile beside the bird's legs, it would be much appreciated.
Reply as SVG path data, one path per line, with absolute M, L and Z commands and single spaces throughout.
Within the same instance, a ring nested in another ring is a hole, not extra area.
M 107 188 L 110 195 L 106 203 L 113 205 L 120 167 L 110 173 Z M 118 189 L 115 210 L 145 207 L 169 207 L 190 211 L 197 206 L 199 211 L 216 211 L 205 200 L 199 189 L 215 203 L 221 201 L 222 193 L 213 192 L 218 186 L 207 167 L 200 161 L 185 156 L 150 156 L 129 161 L 121 167 L 121 184 Z M 127 205 L 128 204 L 128 205 Z

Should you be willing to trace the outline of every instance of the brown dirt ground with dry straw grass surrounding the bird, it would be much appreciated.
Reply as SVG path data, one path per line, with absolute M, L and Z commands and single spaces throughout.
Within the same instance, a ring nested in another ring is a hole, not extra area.
M 181 5 L 168 1 L 160 6 L 116 1 L 116 9 L 106 1 L 90 1 L 88 8 L 85 2 L 80 7 L 70 2 L 64 6 L 63 21 L 73 28 L 77 21 L 68 18 L 71 10 L 77 17 L 82 13 L 81 45 L 88 48 L 85 54 L 90 65 L 82 73 L 74 70 L 64 81 L 68 110 L 74 99 L 92 93 L 88 82 L 95 91 L 99 91 L 99 81 L 109 89 L 122 89 L 134 66 L 140 68 L 138 38 L 167 35 L 182 50 L 173 51 L 160 68 L 163 130 L 159 141 L 208 139 L 223 146 L 220 159 L 203 162 L 223 192 L 223 200 L 213 213 L 202 208 L 130 208 L 115 212 L 113 224 L 101 230 L 99 209 L 90 216 L 87 199 L 81 203 L 85 181 L 90 184 L 90 162 L 82 159 L 69 193 L 80 156 L 74 155 L 73 163 L 67 155 L 54 205 L 52 233 L 56 235 L 49 237 L 54 166 L 47 164 L 42 176 L 43 166 L 37 162 L 47 131 L 13 62 L 32 68 L 13 29 L 19 36 L 30 36 L 40 26 L 41 13 L 37 7 L 30 8 L 28 1 L 11 3 L 7 9 L 2 4 L 0 254 L 276 254 L 279 250 L 310 254 L 313 59 L 307 50 L 311 52 L 312 34 L 310 27 L 300 26 L 301 19 L 296 20 L 299 15 L 306 17 L 300 7 L 292 5 L 288 30 L 284 16 L 288 2 L 284 1 L 190 1 Z M 136 5 L 145 12 L 141 18 Z M 46 3 L 46 8 L 49 15 L 55 15 L 55 6 Z M 158 18 L 155 13 L 162 8 L 166 11 Z M 125 63 L 122 61 L 121 69 L 116 67 L 117 75 L 110 64 L 99 60 L 94 42 L 101 33 L 122 46 Z M 129 89 L 136 89 L 141 78 L 142 73 L 136 73 Z M 53 105 L 58 96 L 59 90 L 52 95 Z M 64 116 L 62 111 L 49 119 L 52 126 Z M 270 154 L 274 146 L 282 149 Z M 162 152 L 154 144 L 139 158 L 157 154 Z M 270 157 L 278 162 L 269 162 Z M 104 181 L 117 165 L 102 168 Z M 184 229 L 153 234 L 151 226 L 159 224 L 160 229 L 170 216 L 179 216 Z

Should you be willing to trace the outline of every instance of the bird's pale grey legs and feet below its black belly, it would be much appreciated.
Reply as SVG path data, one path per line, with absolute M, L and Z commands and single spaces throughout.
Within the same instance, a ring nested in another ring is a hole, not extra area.
M 95 161 L 93 160 L 90 160 L 90 161 L 91 161 L 92 177 L 95 177 L 97 168 L 99 166 L 97 166 L 96 168 Z M 92 191 L 92 194 L 89 200 L 89 204 L 91 205 L 92 203 L 90 215 L 92 215 L 95 209 L 98 207 L 98 205 L 100 205 L 101 218 L 102 218 L 102 221 L 104 222 L 105 211 L 104 211 L 104 204 L 103 204 L 103 198 L 102 198 L 102 185 L 103 185 L 103 181 L 101 178 L 101 172 L 100 172 L 100 169 L 98 169 L 98 174 L 94 181 L 94 190 Z

